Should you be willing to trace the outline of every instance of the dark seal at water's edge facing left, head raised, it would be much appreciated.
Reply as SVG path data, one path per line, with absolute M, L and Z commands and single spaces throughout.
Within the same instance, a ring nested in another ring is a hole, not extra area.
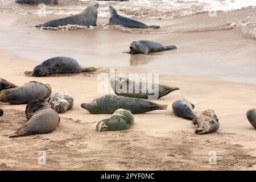
M 160 28 L 159 26 L 147 26 L 144 23 L 138 22 L 130 18 L 126 18 L 125 16 L 121 16 L 117 13 L 117 10 L 115 10 L 113 6 L 109 6 L 109 10 L 110 17 L 108 24 L 110 25 L 121 25 L 127 28 Z

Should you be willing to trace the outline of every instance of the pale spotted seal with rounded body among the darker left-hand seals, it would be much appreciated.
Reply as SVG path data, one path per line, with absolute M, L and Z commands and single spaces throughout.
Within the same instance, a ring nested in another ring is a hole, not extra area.
M 48 103 L 57 113 L 64 113 L 71 109 L 74 104 L 74 99 L 69 93 L 55 93 L 48 98 Z

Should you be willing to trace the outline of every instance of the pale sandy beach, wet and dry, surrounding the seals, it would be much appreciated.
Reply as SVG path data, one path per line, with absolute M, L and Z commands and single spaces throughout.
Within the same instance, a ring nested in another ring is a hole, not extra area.
M 0 170 L 255 170 L 256 131 L 246 118 L 255 107 L 256 42 L 239 26 L 227 22 L 253 15 L 255 8 L 207 13 L 176 19 L 147 19 L 159 30 L 126 30 L 106 27 L 99 18 L 93 30 L 49 31 L 36 24 L 63 15 L 0 13 L 1 78 L 23 85 L 28 81 L 50 84 L 52 93 L 68 92 L 75 99 L 72 110 L 59 114 L 53 133 L 9 138 L 23 123 L 26 105 L 0 103 Z M 246 34 L 247 35 L 247 34 Z M 133 40 L 154 40 L 176 45 L 174 51 L 150 55 L 122 53 Z M 100 68 L 93 74 L 28 77 L 26 71 L 53 56 L 75 58 L 84 67 Z M 125 131 L 97 133 L 96 125 L 108 114 L 90 114 L 82 102 L 104 96 L 97 92 L 99 73 L 159 73 L 160 84 L 180 90 L 154 100 L 167 110 L 135 115 Z M 186 98 L 195 112 L 213 109 L 220 121 L 216 133 L 196 135 L 191 121 L 176 117 L 172 103 Z M 38 152 L 47 154 L 38 164 Z M 216 151 L 217 164 L 209 164 Z

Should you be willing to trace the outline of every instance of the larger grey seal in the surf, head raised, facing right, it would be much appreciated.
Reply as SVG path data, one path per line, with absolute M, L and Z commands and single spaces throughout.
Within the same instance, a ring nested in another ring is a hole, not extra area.
M 98 18 L 98 4 L 87 7 L 79 14 L 68 16 L 66 18 L 54 19 L 44 24 L 39 24 L 36 28 L 40 27 L 59 27 L 66 26 L 68 24 L 81 25 L 81 26 L 96 26 Z

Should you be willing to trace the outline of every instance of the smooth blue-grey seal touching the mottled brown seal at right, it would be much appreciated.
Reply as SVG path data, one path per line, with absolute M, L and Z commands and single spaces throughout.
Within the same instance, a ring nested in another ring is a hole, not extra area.
M 195 112 L 193 111 L 194 108 L 195 105 L 191 104 L 185 99 L 177 100 L 174 102 L 174 104 L 172 104 L 172 111 L 174 111 L 174 114 L 177 115 L 177 117 L 189 120 L 197 118 Z

